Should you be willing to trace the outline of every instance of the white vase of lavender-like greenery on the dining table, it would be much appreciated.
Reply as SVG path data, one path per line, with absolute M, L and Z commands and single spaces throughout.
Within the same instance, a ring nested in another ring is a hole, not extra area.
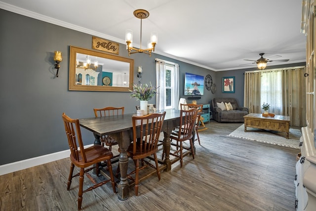
M 144 114 L 147 114 L 147 105 L 148 100 L 152 99 L 154 95 L 157 93 L 156 86 L 150 84 L 134 84 L 133 90 L 129 90 L 132 92 L 130 97 L 135 97 L 136 100 L 140 100 L 140 110 L 144 110 Z

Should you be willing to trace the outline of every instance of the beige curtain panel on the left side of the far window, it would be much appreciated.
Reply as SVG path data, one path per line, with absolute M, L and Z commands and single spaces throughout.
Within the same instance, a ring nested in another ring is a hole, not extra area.
M 244 79 L 243 106 L 249 113 L 261 114 L 261 72 L 246 72 Z

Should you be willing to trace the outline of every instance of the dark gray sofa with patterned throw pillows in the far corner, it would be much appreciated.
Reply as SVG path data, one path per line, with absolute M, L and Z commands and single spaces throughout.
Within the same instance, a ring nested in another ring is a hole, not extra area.
M 221 103 L 223 102 L 223 103 Z M 222 109 L 219 106 L 222 107 Z M 232 110 L 227 110 L 227 105 L 223 104 L 227 103 L 228 108 Z M 235 98 L 213 98 L 212 100 L 212 112 L 213 119 L 219 123 L 243 123 L 243 116 L 249 113 L 248 108 L 239 107 L 238 102 Z

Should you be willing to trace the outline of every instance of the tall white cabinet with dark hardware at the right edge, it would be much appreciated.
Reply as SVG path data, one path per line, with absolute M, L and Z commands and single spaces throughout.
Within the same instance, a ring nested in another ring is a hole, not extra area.
M 306 35 L 306 127 L 300 138 L 301 159 L 296 164 L 295 207 L 297 211 L 315 211 L 316 208 L 316 0 L 302 0 L 302 28 Z

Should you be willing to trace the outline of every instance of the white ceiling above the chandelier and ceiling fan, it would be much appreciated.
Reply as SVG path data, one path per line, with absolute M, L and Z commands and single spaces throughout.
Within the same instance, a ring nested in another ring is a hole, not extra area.
M 262 52 L 289 59 L 268 66 L 306 61 L 301 0 L 2 0 L 0 8 L 120 43 L 131 29 L 134 47 L 140 19 L 133 11 L 146 9 L 142 48 L 156 31 L 155 53 L 214 71 L 256 67 L 244 59 Z

